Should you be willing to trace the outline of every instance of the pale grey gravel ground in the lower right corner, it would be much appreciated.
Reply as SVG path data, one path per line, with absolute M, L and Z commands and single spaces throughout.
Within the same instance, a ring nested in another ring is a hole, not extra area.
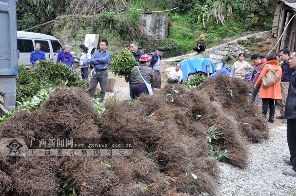
M 272 127 L 269 140 L 250 144 L 246 169 L 220 162 L 218 195 L 296 195 L 296 178 L 282 174 L 291 168 L 283 162 L 289 157 L 286 129 L 285 124 Z

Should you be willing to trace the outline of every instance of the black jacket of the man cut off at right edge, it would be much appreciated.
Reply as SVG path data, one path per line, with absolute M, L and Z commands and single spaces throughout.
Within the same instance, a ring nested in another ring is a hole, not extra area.
M 288 95 L 286 98 L 285 118 L 296 119 L 296 71 L 294 71 L 290 78 L 290 85 Z

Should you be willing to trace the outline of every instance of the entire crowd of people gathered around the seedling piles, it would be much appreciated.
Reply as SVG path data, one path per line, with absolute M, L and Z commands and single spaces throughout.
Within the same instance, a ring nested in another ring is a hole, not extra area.
M 106 93 L 106 84 L 108 78 L 108 66 L 111 53 L 107 51 L 109 43 L 107 40 L 101 40 L 100 50 L 97 50 L 91 56 L 85 45 L 80 45 L 81 56 L 75 56 L 70 53 L 70 46 L 65 45 L 58 53 L 56 62 L 62 62 L 73 68 L 73 58 L 79 62 L 81 69 L 81 77 L 89 80 L 88 67 L 93 66 L 93 72 L 90 77 L 90 86 L 88 94 L 94 97 L 96 86 L 100 84 L 100 100 L 103 102 Z M 207 41 L 203 34 L 200 40 L 193 48 L 194 51 L 204 52 Z M 41 43 L 35 43 L 35 50 L 31 52 L 30 61 L 33 66 L 39 63 L 40 59 L 46 60 L 44 52 L 41 51 Z M 130 77 L 126 78 L 130 86 L 130 98 L 136 99 L 142 93 L 152 94 L 152 89 L 161 88 L 161 72 L 160 61 L 165 52 L 165 48 L 158 48 L 155 52 L 148 55 L 144 50 L 139 49 L 136 41 L 130 43 L 130 52 L 135 60 L 139 62 L 131 70 Z M 250 60 L 253 66 L 245 60 L 245 53 L 239 54 L 239 60 L 233 63 L 230 77 L 239 78 L 245 81 L 253 80 L 250 102 L 254 103 L 256 98 L 262 107 L 262 115 L 268 122 L 274 122 L 274 118 L 283 119 L 283 123 L 287 123 L 287 140 L 290 150 L 290 159 L 284 159 L 284 162 L 293 167 L 284 170 L 285 175 L 296 177 L 296 50 L 289 51 L 287 49 L 280 50 L 279 53 L 260 55 L 259 53 L 251 56 Z M 177 63 L 175 67 L 167 68 L 165 73 L 168 83 L 183 83 L 183 73 L 180 70 L 181 64 Z M 262 85 L 262 78 L 273 69 L 280 76 L 281 80 L 265 87 Z M 155 74 L 159 80 L 156 85 L 151 86 L 155 80 Z M 279 105 L 280 116 L 274 117 L 275 104 Z M 269 117 L 267 118 L 269 110 Z

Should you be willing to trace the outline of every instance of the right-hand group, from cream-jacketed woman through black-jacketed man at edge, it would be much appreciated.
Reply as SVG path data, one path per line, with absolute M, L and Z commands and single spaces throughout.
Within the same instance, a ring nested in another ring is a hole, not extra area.
M 262 99 L 262 114 L 268 122 L 274 122 L 275 108 L 274 104 L 278 101 L 280 116 L 275 118 L 283 119 L 287 123 L 287 141 L 290 151 L 290 158 L 284 159 L 286 164 L 293 166 L 291 169 L 284 170 L 283 173 L 288 176 L 296 177 L 296 50 L 280 50 L 279 53 L 260 56 L 254 54 L 251 60 L 252 67 L 244 61 L 245 55 L 239 55 L 239 60 L 234 62 L 230 77 L 236 77 L 242 80 L 248 80 L 249 75 L 253 75 L 251 102 L 259 94 Z M 273 69 L 280 76 L 280 80 L 274 84 L 265 87 L 262 84 L 262 78 Z

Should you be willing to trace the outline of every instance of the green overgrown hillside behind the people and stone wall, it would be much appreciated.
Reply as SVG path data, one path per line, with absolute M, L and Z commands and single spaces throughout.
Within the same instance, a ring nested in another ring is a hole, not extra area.
M 63 14 L 68 14 L 69 18 L 71 15 L 87 15 L 100 18 L 101 29 L 104 29 L 100 35 L 122 37 L 123 40 L 128 37 L 129 40 L 145 42 L 147 40 L 143 39 L 138 20 L 140 14 L 144 10 L 163 11 L 161 13 L 170 16 L 170 32 L 166 45 L 177 44 L 186 53 L 191 50 L 201 33 L 205 34 L 209 45 L 213 45 L 219 39 L 244 31 L 271 30 L 276 6 L 277 1 L 267 0 L 115 0 L 100 3 L 97 0 L 30 0 L 17 3 L 17 29 L 31 28 Z M 129 11 L 123 12 L 126 8 Z M 112 28 L 108 28 L 111 25 Z M 52 29 L 51 25 L 47 25 L 32 31 L 53 34 Z

